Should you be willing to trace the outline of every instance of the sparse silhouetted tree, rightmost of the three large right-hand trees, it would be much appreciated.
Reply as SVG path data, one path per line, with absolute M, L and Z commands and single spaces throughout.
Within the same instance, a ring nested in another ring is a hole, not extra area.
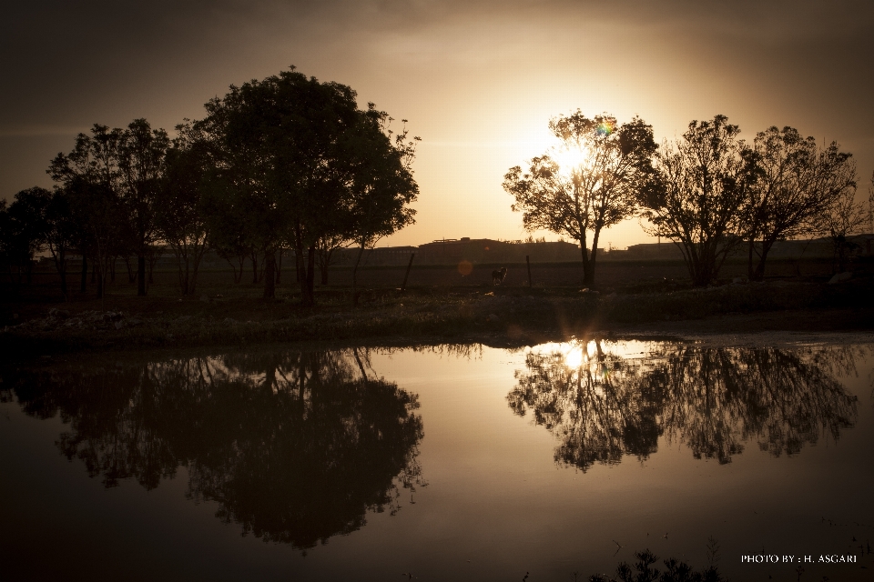
M 744 206 L 751 280 L 765 276 L 767 253 L 778 240 L 813 232 L 840 196 L 855 190 L 850 154 L 838 144 L 820 149 L 792 127 L 769 127 L 754 141 L 758 176 Z M 756 262 L 756 266 L 753 264 Z

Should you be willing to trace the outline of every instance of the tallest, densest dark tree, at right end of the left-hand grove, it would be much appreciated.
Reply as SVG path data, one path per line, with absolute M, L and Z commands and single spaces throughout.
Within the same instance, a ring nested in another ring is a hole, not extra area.
M 292 68 L 231 86 L 206 105 L 208 117 L 198 127 L 217 146 L 225 185 L 217 206 L 245 217 L 243 238 L 265 257 L 265 297 L 275 295 L 283 246 L 295 250 L 301 295 L 311 304 L 320 240 L 366 231 L 370 241 L 412 217 L 404 205 L 417 190 L 405 150 L 381 131 L 385 115 L 372 106 L 361 111 L 355 96 L 346 85 Z

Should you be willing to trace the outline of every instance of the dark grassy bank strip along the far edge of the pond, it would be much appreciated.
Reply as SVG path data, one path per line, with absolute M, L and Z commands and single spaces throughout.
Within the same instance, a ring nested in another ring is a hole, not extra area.
M 860 263 L 849 280 L 828 276 L 740 279 L 693 287 L 668 278 L 629 280 L 599 290 L 579 286 L 317 286 L 315 305 L 283 286 L 263 299 L 260 287 L 203 286 L 178 296 L 171 285 L 114 286 L 111 295 L 70 296 L 56 283 L 22 290 L 2 306 L 0 348 L 27 356 L 89 349 L 250 345 L 272 342 L 432 343 L 483 341 L 530 345 L 570 336 L 639 332 L 671 335 L 752 329 L 822 331 L 874 328 L 874 269 Z M 763 318 L 771 321 L 764 327 Z

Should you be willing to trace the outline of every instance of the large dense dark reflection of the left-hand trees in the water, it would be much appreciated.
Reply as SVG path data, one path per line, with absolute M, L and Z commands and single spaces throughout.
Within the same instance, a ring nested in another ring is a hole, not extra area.
M 364 356 L 361 356 L 364 357 Z M 265 540 L 311 547 L 396 511 L 422 484 L 417 397 L 372 374 L 358 354 L 265 353 L 165 360 L 21 376 L 25 412 L 60 412 L 58 441 L 107 487 L 157 487 L 188 467 L 188 497 Z M 366 357 L 364 357 L 366 361 Z M 368 377 L 371 376 L 371 377 Z

